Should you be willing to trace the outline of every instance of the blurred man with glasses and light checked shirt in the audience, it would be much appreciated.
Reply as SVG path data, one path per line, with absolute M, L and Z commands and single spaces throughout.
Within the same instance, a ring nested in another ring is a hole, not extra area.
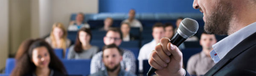
M 107 31 L 106 36 L 103 38 L 105 45 L 116 44 L 119 46 L 122 43 L 122 33 L 118 28 L 111 28 Z M 129 71 L 131 73 L 135 73 L 136 65 L 135 65 L 135 56 L 133 52 L 128 49 L 121 49 L 123 52 L 123 59 L 120 62 L 121 69 L 125 71 Z M 98 71 L 105 70 L 104 63 L 102 62 L 102 51 L 95 54 L 91 60 L 90 65 L 90 73 L 96 73 Z

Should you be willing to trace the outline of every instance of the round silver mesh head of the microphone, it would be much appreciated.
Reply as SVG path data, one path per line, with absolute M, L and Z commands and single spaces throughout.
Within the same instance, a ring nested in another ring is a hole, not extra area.
M 183 38 L 189 38 L 198 31 L 198 22 L 194 19 L 185 18 L 180 22 L 177 33 Z

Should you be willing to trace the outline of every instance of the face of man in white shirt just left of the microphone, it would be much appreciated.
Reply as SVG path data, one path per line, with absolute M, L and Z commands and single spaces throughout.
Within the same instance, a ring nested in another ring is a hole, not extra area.
M 165 37 L 171 39 L 175 33 L 172 23 L 166 23 L 164 26 L 164 29 L 165 29 Z

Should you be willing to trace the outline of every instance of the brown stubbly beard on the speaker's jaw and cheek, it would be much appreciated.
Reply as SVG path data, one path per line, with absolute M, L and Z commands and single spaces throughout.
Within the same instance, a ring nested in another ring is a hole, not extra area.
M 228 35 L 233 16 L 231 3 L 219 1 L 210 16 L 205 16 L 204 30 L 210 34 Z

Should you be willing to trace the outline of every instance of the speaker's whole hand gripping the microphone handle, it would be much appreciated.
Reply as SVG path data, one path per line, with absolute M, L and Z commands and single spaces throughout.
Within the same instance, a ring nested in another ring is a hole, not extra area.
M 152 51 L 148 63 L 157 69 L 155 73 L 159 76 L 183 76 L 186 71 L 182 68 L 182 53 L 169 41 L 168 38 L 160 40 L 161 45 L 157 45 L 155 51 Z

